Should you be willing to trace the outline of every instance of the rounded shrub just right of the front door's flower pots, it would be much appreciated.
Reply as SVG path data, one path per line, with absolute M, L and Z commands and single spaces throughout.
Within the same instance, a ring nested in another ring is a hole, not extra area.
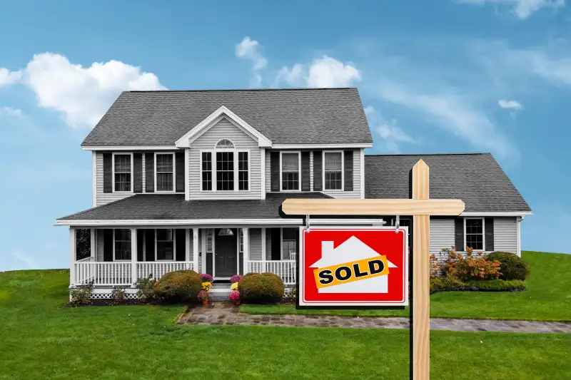
M 273 273 L 247 273 L 238 281 L 240 298 L 244 303 L 276 303 L 283 297 L 283 281 Z

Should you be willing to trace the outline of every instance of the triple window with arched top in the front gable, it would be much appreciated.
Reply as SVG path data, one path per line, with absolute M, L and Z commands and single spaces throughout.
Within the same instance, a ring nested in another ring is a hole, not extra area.
M 250 190 L 250 154 L 222 139 L 214 149 L 201 151 L 202 191 Z

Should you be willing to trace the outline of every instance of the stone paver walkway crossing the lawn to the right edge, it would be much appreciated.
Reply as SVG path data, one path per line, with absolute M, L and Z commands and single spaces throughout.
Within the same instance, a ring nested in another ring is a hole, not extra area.
M 204 307 L 189 307 L 176 324 L 256 325 L 295 327 L 352 327 L 370 329 L 408 329 L 403 317 L 336 317 L 325 315 L 268 315 L 239 312 L 230 302 L 215 302 Z M 566 332 L 571 322 L 497 321 L 494 319 L 431 318 L 430 329 L 458 332 Z

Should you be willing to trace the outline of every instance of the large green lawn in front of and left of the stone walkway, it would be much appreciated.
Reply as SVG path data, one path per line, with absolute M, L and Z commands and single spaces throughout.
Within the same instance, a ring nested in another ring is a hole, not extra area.
M 408 331 L 176 326 L 183 307 L 62 307 L 69 274 L 0 273 L 0 379 L 408 379 Z M 571 379 L 571 334 L 431 332 L 432 379 Z

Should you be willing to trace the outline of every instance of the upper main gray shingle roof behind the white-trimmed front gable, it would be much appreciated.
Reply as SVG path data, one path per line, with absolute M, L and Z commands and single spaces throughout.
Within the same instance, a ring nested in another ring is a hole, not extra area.
M 174 145 L 221 106 L 274 144 L 373 143 L 356 88 L 304 88 L 126 91 L 81 145 Z

